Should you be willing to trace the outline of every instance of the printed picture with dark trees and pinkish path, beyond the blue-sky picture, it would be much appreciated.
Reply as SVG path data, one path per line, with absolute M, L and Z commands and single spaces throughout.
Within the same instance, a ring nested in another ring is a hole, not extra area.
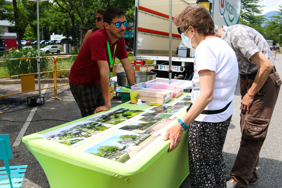
M 175 118 L 174 118 L 175 119 Z M 170 119 L 163 119 L 163 118 L 156 118 L 156 117 L 149 117 L 149 116 L 140 116 L 137 119 L 121 125 L 117 127 L 118 129 L 128 130 L 143 134 L 153 135 L 157 131 L 161 130 L 162 128 L 169 125 L 173 120 Z

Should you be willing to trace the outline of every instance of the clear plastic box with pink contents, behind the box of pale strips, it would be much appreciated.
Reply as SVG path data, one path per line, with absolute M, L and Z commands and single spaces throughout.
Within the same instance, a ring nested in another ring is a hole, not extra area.
M 163 79 L 153 79 L 145 82 L 147 84 L 154 85 L 171 85 L 173 88 L 173 98 L 177 98 L 178 96 L 183 94 L 184 91 L 184 80 L 163 80 Z

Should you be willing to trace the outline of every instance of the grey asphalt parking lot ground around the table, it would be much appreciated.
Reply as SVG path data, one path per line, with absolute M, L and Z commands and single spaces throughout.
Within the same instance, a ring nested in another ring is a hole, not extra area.
M 282 76 L 282 54 L 276 55 L 275 66 L 278 73 Z M 46 84 L 41 84 L 41 88 Z M 48 84 L 52 87 L 53 84 Z M 233 167 L 236 154 L 240 146 L 240 89 L 239 79 L 236 85 L 234 98 L 234 113 L 232 115 L 231 124 L 226 136 L 226 141 L 223 149 L 224 161 L 227 172 L 230 173 Z M 38 85 L 36 85 L 38 88 Z M 30 122 L 26 129 L 25 135 L 30 135 L 35 132 L 46 130 L 65 123 L 64 121 L 73 121 L 81 118 L 80 110 L 68 89 L 69 86 L 63 86 L 58 89 L 58 97 L 63 100 L 54 100 L 50 97 L 54 95 L 53 88 L 47 89 L 44 98 L 45 104 L 38 106 L 33 115 L 33 122 Z M 21 85 L 0 85 L 0 95 L 21 92 Z M 270 126 L 264 145 L 260 152 L 260 163 L 258 167 L 259 180 L 256 184 L 250 185 L 251 188 L 276 188 L 282 186 L 282 91 L 278 97 L 276 107 L 274 109 Z M 38 92 L 24 93 L 20 95 L 13 95 L 5 98 L 25 99 L 29 96 L 38 95 Z M 114 94 L 111 100 L 112 107 L 121 104 L 121 98 Z M 12 107 L 12 106 L 11 106 Z M 3 108 L 3 106 L 1 107 Z M 0 134 L 8 134 L 11 142 L 13 158 L 9 159 L 10 166 L 13 165 L 28 165 L 26 175 L 22 184 L 22 188 L 49 188 L 48 179 L 37 162 L 36 158 L 26 148 L 23 142 L 16 142 L 19 133 L 23 131 L 24 122 L 28 116 L 31 115 L 31 110 L 27 105 L 19 105 L 7 111 L 0 110 L 3 115 L 0 115 Z M 9 120 L 9 121 L 1 121 Z M 35 121 L 40 120 L 40 121 Z M 60 121 L 62 120 L 62 121 Z M 11 122 L 17 121 L 17 122 Z M 17 145 L 19 146 L 13 146 Z M 3 160 L 0 160 L 0 167 L 4 166 Z M 54 169 L 56 170 L 56 169 Z M 169 169 L 168 169 L 169 170 Z M 175 174 L 177 176 L 177 174 Z M 171 177 L 173 178 L 173 177 Z M 180 186 L 181 188 L 190 188 L 190 178 L 188 177 Z

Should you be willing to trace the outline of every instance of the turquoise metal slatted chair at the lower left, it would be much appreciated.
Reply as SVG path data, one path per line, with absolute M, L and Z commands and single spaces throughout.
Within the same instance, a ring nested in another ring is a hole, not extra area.
M 0 160 L 4 160 L 5 167 L 0 167 L 0 188 L 21 187 L 27 165 L 9 166 L 12 150 L 8 135 L 0 135 Z M 6 174 L 6 175 L 3 175 Z

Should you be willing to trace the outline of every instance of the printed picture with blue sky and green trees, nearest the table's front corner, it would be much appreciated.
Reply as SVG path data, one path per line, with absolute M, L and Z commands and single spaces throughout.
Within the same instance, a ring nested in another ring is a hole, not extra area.
M 162 139 L 159 137 L 160 135 L 152 136 L 127 130 L 119 130 L 80 149 L 80 151 L 113 161 L 131 164 L 157 144 L 157 142 Z

